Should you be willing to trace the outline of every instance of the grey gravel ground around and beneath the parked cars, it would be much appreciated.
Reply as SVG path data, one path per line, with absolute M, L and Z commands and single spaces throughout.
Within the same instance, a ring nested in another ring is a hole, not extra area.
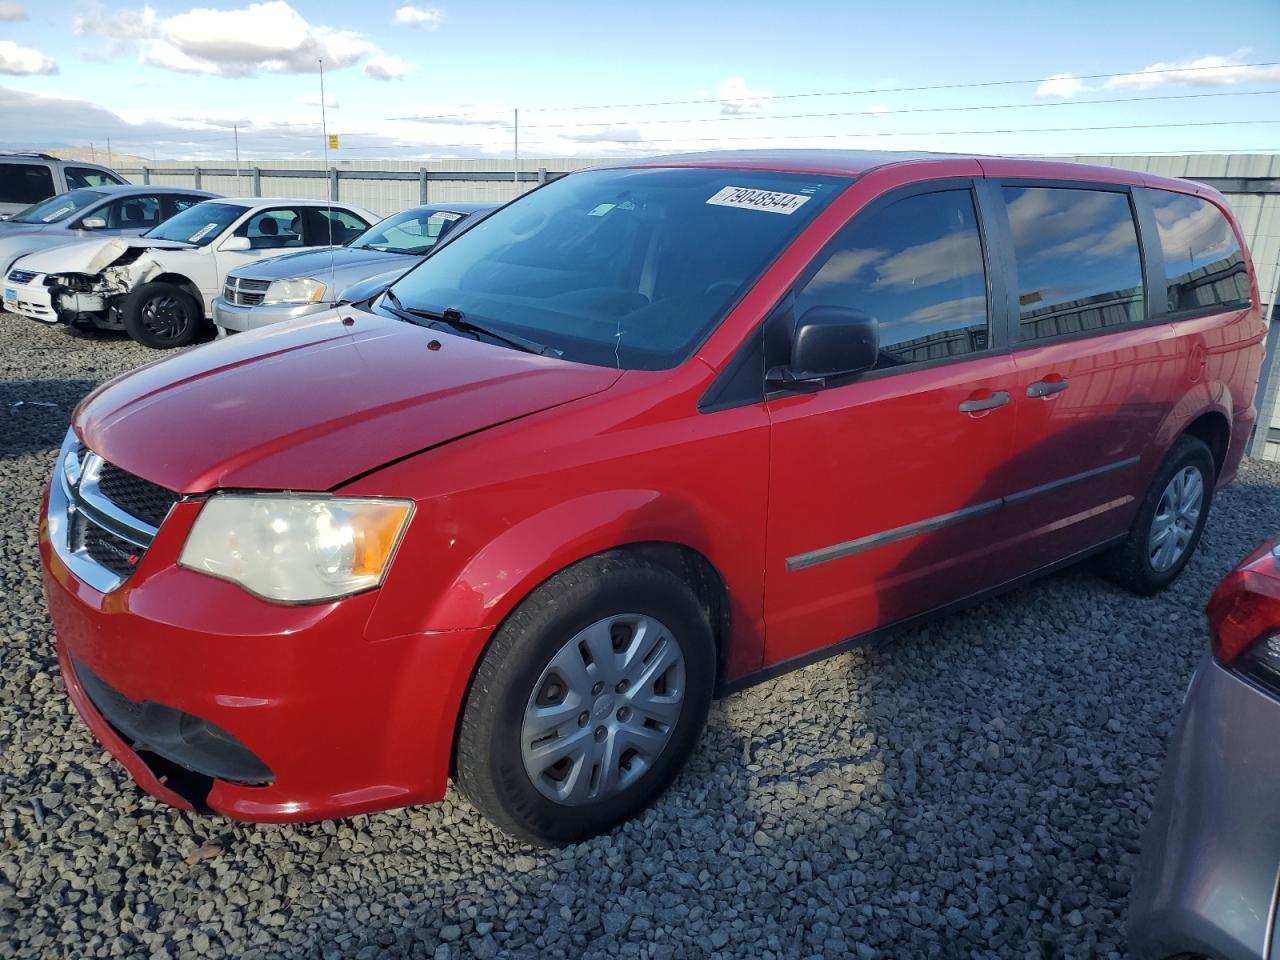
M 247 826 L 141 794 L 63 696 L 36 507 L 76 401 L 155 355 L 0 317 L 0 955 L 1123 956 L 1139 837 L 1217 580 L 1275 525 L 1251 462 L 1153 599 L 1069 571 L 713 708 L 612 836 L 465 803 Z

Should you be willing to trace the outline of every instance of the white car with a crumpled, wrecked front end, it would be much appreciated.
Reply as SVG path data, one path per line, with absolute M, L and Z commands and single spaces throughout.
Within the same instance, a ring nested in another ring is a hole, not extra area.
M 227 274 L 253 260 L 340 246 L 378 218 L 323 200 L 209 200 L 141 237 L 92 239 L 20 257 L 4 306 L 46 324 L 125 330 L 184 347 L 211 317 Z

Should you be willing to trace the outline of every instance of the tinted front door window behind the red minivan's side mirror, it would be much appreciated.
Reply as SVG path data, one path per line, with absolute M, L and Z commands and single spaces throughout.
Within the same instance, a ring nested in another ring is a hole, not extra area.
M 877 369 L 986 349 L 987 279 L 973 195 L 923 193 L 856 216 L 796 297 L 879 320 Z

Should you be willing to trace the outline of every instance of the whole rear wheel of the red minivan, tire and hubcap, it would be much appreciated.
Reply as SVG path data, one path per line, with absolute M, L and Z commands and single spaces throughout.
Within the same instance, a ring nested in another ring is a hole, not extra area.
M 1213 454 L 1204 442 L 1179 436 L 1156 471 L 1129 536 L 1103 556 L 1103 573 L 1137 594 L 1169 586 L 1199 544 L 1215 479 Z

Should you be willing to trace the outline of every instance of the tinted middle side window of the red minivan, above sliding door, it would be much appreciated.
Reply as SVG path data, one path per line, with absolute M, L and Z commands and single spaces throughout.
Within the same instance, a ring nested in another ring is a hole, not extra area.
M 1142 255 L 1126 193 L 1005 187 L 1005 202 L 1018 261 L 1021 339 L 1146 317 Z

